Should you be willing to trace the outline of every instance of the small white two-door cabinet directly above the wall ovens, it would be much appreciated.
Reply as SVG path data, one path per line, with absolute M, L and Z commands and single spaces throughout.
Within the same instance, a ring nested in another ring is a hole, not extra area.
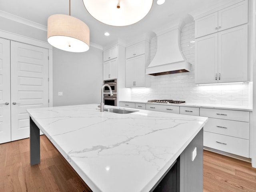
M 104 80 L 117 78 L 117 59 L 103 63 Z

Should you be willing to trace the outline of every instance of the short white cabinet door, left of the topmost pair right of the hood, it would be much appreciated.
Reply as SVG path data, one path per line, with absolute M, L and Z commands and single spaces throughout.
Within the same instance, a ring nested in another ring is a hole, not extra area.
M 195 38 L 218 32 L 218 12 L 195 20 Z

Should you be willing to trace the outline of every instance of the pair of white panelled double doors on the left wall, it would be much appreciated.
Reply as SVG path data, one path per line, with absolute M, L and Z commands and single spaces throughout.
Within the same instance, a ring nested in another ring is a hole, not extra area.
M 28 138 L 28 108 L 48 107 L 48 49 L 0 38 L 0 143 Z

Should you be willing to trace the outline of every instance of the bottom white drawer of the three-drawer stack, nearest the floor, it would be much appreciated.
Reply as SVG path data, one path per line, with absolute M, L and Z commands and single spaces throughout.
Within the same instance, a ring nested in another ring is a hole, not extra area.
M 204 146 L 249 158 L 249 140 L 204 131 Z

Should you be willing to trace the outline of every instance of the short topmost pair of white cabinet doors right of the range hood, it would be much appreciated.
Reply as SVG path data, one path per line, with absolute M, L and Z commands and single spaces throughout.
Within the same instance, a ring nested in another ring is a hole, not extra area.
M 248 0 L 195 20 L 195 38 L 248 22 Z

